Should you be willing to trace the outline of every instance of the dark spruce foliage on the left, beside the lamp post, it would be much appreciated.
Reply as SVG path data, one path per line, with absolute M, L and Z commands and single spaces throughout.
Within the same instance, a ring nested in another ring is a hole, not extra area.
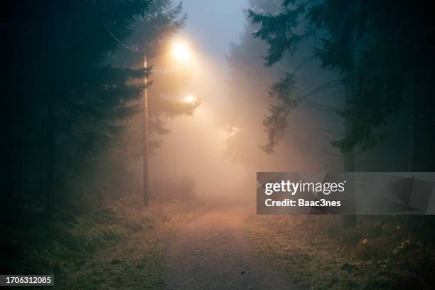
M 11 103 L 14 190 L 9 210 L 19 207 L 23 191 L 31 200 L 45 192 L 39 199 L 48 213 L 68 200 L 71 176 L 80 176 L 83 162 L 119 138 L 124 121 L 138 112 L 131 104 L 141 97 L 151 70 L 114 68 L 107 56 L 140 19 L 159 28 L 146 32 L 147 43 L 159 43 L 166 29 L 173 33 L 180 27 L 174 17 L 181 6 L 171 16 L 164 6 L 159 14 L 153 5 L 149 0 L 10 5 L 11 73 L 17 90 Z

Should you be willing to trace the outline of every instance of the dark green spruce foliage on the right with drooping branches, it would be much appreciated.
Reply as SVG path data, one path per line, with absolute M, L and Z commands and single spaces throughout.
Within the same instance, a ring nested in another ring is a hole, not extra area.
M 251 11 L 250 16 L 253 23 L 261 24 L 254 36 L 269 44 L 267 65 L 277 63 L 286 52 L 295 53 L 302 42 L 318 38 L 307 61 L 321 60 L 321 68 L 336 71 L 341 76 L 337 82 L 343 85 L 349 80 L 345 77 L 346 71 L 353 72 L 353 100 L 350 106 L 338 112 L 346 120 L 348 129 L 343 139 L 332 142 L 333 146 L 344 152 L 352 151 L 355 146 L 363 150 L 375 148 L 386 137 L 375 129 L 384 125 L 409 97 L 415 99 L 412 103 L 418 103 L 412 107 L 420 116 L 424 115 L 421 119 L 426 119 L 421 122 L 419 118 L 419 124 L 414 124 L 421 134 L 413 138 L 420 144 L 420 150 L 412 151 L 419 152 L 419 162 L 426 167 L 421 166 L 420 170 L 428 170 L 429 164 L 434 164 L 434 154 L 426 147 L 433 145 L 434 139 L 425 140 L 422 136 L 424 128 L 434 124 L 433 114 L 429 112 L 433 100 L 428 94 L 428 72 L 434 63 L 434 54 L 430 52 L 434 48 L 434 36 L 424 5 L 406 0 L 286 0 L 279 14 Z M 353 45 L 348 45 L 350 43 Z M 279 100 L 279 105 L 272 106 L 271 114 L 264 120 L 269 131 L 266 151 L 273 150 L 285 129 L 286 117 L 303 99 L 295 97 L 295 83 L 296 74 L 290 72 L 272 87 L 271 93 Z M 410 87 L 414 92 L 409 95 Z

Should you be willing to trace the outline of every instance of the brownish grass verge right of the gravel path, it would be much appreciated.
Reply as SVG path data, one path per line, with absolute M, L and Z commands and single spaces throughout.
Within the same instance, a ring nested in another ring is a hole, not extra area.
M 257 215 L 247 231 L 259 254 L 308 289 L 431 289 L 435 252 L 394 220 Z

